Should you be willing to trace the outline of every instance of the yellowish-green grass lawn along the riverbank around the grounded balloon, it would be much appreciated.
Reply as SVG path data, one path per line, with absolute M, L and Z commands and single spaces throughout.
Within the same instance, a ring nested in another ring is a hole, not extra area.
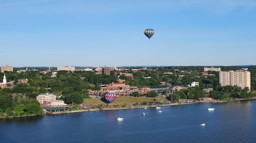
M 150 101 L 169 101 L 165 97 L 156 97 L 156 98 L 149 98 L 149 97 L 131 97 L 131 96 L 123 96 L 123 97 L 116 97 L 116 99 L 111 103 L 112 105 L 124 105 L 126 103 L 127 106 L 131 106 L 135 104 L 136 102 L 142 103 L 144 101 L 150 102 Z M 91 105 L 91 106 L 97 106 L 100 104 L 105 104 L 105 99 L 100 98 L 90 98 L 90 99 L 84 99 L 83 104 L 85 105 Z

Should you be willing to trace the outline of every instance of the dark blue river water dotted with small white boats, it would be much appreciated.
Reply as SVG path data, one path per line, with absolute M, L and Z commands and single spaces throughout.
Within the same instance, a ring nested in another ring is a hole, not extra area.
M 247 100 L 5 119 L 0 142 L 256 142 L 255 109 Z

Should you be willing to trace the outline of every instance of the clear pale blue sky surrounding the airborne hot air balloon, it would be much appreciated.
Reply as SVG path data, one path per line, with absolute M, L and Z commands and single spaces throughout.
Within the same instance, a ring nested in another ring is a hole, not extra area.
M 252 0 L 0 0 L 0 21 L 0 66 L 256 64 Z

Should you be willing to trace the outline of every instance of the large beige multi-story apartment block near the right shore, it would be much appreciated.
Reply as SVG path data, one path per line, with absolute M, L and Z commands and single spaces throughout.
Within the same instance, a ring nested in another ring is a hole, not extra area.
M 251 90 L 250 72 L 244 70 L 237 71 L 220 71 L 220 84 L 226 85 L 237 85 L 242 89 L 246 87 Z

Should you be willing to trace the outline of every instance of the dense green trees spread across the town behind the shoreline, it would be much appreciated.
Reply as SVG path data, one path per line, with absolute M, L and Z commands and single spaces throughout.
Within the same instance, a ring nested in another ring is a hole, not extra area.
M 256 66 L 220 66 L 222 71 L 240 70 L 248 68 L 251 73 L 251 91 L 256 89 Z M 177 102 L 180 98 L 197 99 L 205 97 L 203 89 L 212 88 L 210 97 L 215 99 L 248 98 L 255 94 L 247 92 L 239 87 L 221 87 L 219 84 L 219 72 L 208 71 L 212 76 L 203 76 L 202 66 L 170 66 L 170 67 L 147 67 L 147 70 L 133 71 L 142 67 L 122 68 L 122 71 L 111 71 L 110 75 L 98 74 L 91 71 L 58 71 L 52 76 L 54 68 L 50 72 L 46 68 L 28 68 L 25 72 L 17 72 L 24 68 L 14 68 L 13 72 L 5 72 L 7 82 L 14 81 L 14 86 L 0 89 L 0 116 L 7 113 L 8 116 L 21 116 L 42 113 L 36 96 L 43 93 L 57 95 L 67 104 L 82 103 L 83 99 L 89 98 L 87 90 L 100 90 L 101 84 L 118 82 L 118 79 L 125 80 L 125 84 L 137 87 L 147 85 L 159 85 L 161 81 L 172 85 L 189 85 L 193 81 L 199 82 L 199 87 L 181 90 L 170 95 L 172 101 Z M 144 68 L 144 67 L 143 67 Z M 131 77 L 114 73 L 132 73 Z M 182 75 L 182 76 L 180 76 Z M 0 73 L 0 81 L 3 81 L 4 73 Z M 150 78 L 148 78 L 150 77 Z M 28 79 L 28 83 L 17 83 L 17 79 Z M 32 110 L 33 108 L 33 110 Z

